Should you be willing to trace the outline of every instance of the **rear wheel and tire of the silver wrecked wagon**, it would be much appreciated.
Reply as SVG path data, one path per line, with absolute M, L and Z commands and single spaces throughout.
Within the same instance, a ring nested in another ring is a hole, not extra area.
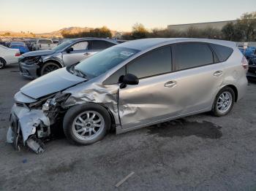
M 224 101 L 223 101 L 224 100 Z M 228 114 L 235 103 L 235 93 L 231 87 L 223 87 L 219 90 L 214 104 L 212 106 L 212 114 L 216 117 L 222 117 Z

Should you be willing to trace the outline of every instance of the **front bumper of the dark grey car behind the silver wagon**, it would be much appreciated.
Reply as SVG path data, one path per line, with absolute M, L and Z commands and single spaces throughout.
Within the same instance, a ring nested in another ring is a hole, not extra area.
M 23 77 L 27 77 L 30 79 L 35 79 L 39 77 L 37 75 L 37 69 L 39 69 L 39 66 L 37 64 L 28 65 L 26 63 L 20 62 L 19 68 L 20 68 L 20 74 L 23 75 Z

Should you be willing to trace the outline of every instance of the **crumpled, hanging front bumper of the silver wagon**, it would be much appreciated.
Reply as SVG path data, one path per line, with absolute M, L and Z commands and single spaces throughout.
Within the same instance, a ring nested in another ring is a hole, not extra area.
M 44 145 L 39 138 L 49 135 L 50 120 L 41 109 L 29 109 L 17 104 L 12 106 L 7 142 L 12 143 L 15 149 L 23 143 L 37 154 L 42 153 Z

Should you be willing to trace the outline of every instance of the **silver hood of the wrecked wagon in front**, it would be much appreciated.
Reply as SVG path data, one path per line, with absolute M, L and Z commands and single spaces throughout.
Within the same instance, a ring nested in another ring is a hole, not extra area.
M 34 79 L 32 82 L 23 86 L 20 92 L 37 99 L 84 81 L 86 81 L 86 79 L 70 74 L 66 68 L 62 68 Z

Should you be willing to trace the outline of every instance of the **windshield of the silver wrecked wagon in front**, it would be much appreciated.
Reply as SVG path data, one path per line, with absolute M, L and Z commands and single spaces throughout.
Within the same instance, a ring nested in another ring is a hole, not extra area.
M 75 66 L 75 70 L 81 71 L 89 77 L 97 77 L 127 60 L 132 55 L 135 55 L 137 52 L 139 52 L 139 50 L 126 47 L 110 47 L 81 61 Z

